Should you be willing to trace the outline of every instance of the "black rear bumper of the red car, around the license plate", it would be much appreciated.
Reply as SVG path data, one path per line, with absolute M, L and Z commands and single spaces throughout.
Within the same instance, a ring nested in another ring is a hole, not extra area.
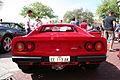
M 12 56 L 13 62 L 20 65 L 78 65 L 86 63 L 99 63 L 106 60 L 106 56 L 70 56 L 70 62 L 49 62 L 48 56 L 26 57 Z

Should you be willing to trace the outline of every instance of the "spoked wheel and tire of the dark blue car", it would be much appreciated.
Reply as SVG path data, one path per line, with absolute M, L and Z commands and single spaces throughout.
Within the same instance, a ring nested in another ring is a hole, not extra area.
M 5 37 L 3 37 L 3 39 L 1 40 L 1 49 L 2 49 L 2 53 L 8 53 L 11 51 L 12 48 L 12 37 L 9 35 L 6 35 Z

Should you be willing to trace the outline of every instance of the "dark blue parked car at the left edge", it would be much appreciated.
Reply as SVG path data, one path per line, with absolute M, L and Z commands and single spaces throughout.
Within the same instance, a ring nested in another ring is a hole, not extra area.
M 0 49 L 7 53 L 11 50 L 12 39 L 16 36 L 25 35 L 25 30 L 18 23 L 0 22 Z

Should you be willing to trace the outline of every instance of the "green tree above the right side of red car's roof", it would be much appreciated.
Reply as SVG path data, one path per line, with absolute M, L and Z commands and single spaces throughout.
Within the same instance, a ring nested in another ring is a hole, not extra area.
M 83 20 L 91 22 L 93 21 L 93 13 L 88 10 L 84 11 L 83 8 L 80 8 L 73 11 L 67 11 L 63 17 L 64 21 L 67 23 L 69 23 L 73 18 L 78 22 L 82 22 Z

